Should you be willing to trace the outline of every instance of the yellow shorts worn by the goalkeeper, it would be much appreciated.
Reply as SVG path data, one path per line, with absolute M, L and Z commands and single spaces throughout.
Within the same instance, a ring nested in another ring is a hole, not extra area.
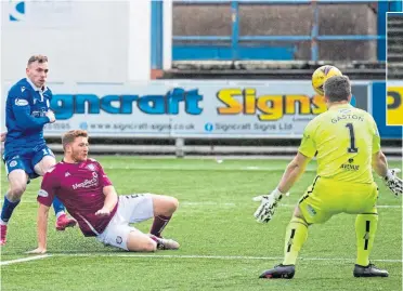
M 324 223 L 338 213 L 377 213 L 378 186 L 316 176 L 299 200 L 299 208 L 310 224 Z

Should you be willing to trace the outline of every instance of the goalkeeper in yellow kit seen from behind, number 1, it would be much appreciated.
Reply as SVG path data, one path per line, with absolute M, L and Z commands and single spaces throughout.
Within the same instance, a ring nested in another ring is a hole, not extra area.
M 308 237 L 308 226 L 324 223 L 338 213 L 358 214 L 354 277 L 388 277 L 387 270 L 369 263 L 378 223 L 378 188 L 372 170 L 384 177 L 396 196 L 402 194 L 403 187 L 402 180 L 395 176 L 400 170 L 388 170 L 373 117 L 350 105 L 349 78 L 329 78 L 324 91 L 328 110 L 307 125 L 298 154 L 288 164 L 277 188 L 255 199 L 261 201 L 255 217 L 258 222 L 269 222 L 277 202 L 316 156 L 317 175 L 299 200 L 287 226 L 284 261 L 265 270 L 260 278 L 291 279 L 298 252 Z

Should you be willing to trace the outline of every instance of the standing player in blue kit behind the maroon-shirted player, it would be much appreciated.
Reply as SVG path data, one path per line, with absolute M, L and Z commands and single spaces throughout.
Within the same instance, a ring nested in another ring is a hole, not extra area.
M 55 122 L 50 109 L 52 91 L 46 85 L 48 57 L 34 55 L 28 59 L 24 78 L 9 91 L 5 105 L 5 134 L 3 161 L 10 183 L 4 196 L 0 219 L 0 246 L 5 244 L 8 222 L 20 203 L 30 178 L 42 176 L 56 161 L 43 138 L 43 127 Z M 56 229 L 76 225 L 68 219 L 61 201 L 53 201 Z

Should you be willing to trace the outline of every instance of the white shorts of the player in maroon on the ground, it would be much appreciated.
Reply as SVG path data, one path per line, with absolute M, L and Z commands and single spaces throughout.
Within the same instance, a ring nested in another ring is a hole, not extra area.
M 129 223 L 139 223 L 154 217 L 153 198 L 150 193 L 119 196 L 118 209 L 106 226 L 96 236 L 104 244 L 114 246 L 128 251 L 127 240 L 131 232 L 140 232 Z

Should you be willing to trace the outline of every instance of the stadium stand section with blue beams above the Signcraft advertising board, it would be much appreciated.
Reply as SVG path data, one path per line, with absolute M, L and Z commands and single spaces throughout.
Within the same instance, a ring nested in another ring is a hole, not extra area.
M 385 78 L 377 1 L 178 1 L 173 66 L 164 78 L 309 78 L 333 63 L 352 79 Z M 214 13 L 211 13 L 214 11 Z M 278 77 L 280 76 L 280 77 Z

